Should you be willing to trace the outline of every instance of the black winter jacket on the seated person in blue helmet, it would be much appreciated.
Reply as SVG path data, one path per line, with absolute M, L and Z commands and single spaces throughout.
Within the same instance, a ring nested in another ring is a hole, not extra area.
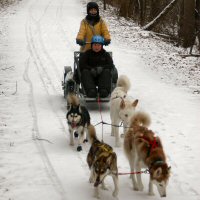
M 114 67 L 111 55 L 102 49 L 100 52 L 95 52 L 92 49 L 87 50 L 80 56 L 79 67 L 83 69 L 92 69 L 95 67 L 103 67 L 112 69 Z

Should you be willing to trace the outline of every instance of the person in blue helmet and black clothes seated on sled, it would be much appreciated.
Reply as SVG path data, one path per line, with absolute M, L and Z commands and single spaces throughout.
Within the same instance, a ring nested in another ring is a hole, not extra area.
M 114 69 L 114 64 L 103 45 L 103 37 L 93 36 L 91 49 L 82 53 L 79 60 L 81 82 L 86 95 L 90 98 L 97 97 L 97 93 L 101 98 L 105 98 L 111 92 L 111 71 Z

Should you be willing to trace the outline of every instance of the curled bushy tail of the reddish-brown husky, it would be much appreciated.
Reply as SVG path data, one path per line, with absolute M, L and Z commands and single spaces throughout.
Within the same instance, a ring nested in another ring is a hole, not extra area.
M 151 118 L 147 113 L 136 112 L 131 119 L 131 127 L 144 126 L 148 127 L 151 124 Z

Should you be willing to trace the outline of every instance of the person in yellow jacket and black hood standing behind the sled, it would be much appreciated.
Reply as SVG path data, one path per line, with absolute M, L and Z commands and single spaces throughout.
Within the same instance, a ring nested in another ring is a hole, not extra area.
M 99 6 L 96 2 L 87 4 L 87 16 L 81 21 L 76 37 L 76 43 L 81 46 L 80 51 L 91 49 L 91 40 L 95 35 L 104 37 L 104 45 L 111 42 L 110 33 L 105 21 L 99 16 Z

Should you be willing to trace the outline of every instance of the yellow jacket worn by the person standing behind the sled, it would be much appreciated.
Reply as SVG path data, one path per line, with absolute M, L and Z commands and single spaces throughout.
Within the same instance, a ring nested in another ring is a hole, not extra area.
M 101 35 L 105 40 L 111 40 L 107 25 L 102 18 L 94 26 L 89 24 L 86 19 L 83 19 L 76 39 L 85 41 L 86 45 L 82 46 L 80 51 L 84 52 L 91 49 L 90 43 L 94 35 Z

